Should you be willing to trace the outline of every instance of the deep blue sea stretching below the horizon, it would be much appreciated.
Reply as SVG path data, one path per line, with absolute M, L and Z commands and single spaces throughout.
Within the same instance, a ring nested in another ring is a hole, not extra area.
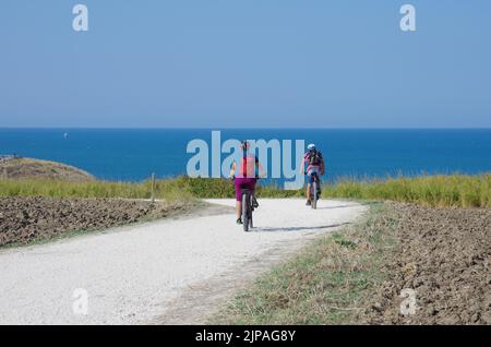
M 326 158 L 328 180 L 491 171 L 491 129 L 225 129 L 228 139 L 304 140 Z M 0 155 L 82 168 L 106 180 L 141 181 L 187 172 L 188 142 L 211 143 L 211 129 L 0 129 Z M 227 155 L 224 154 L 223 158 Z

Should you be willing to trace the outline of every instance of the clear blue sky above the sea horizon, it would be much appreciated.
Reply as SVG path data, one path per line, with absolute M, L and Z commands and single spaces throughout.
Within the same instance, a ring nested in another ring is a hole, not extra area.
M 0 127 L 243 125 L 490 128 L 491 1 L 0 1 Z

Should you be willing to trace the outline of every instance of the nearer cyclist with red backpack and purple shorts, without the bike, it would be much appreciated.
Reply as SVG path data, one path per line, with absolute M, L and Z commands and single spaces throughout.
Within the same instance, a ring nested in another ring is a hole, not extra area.
M 236 188 L 236 214 L 237 224 L 242 224 L 242 189 L 250 189 L 252 191 L 252 207 L 259 207 L 255 200 L 255 183 L 258 182 L 258 170 L 261 176 L 264 176 L 264 169 L 259 163 L 258 157 L 249 153 L 249 142 L 242 141 L 242 157 L 238 167 L 233 160 L 230 170 L 230 178 L 233 179 L 233 186 Z M 238 170 L 239 169 L 239 170 Z

